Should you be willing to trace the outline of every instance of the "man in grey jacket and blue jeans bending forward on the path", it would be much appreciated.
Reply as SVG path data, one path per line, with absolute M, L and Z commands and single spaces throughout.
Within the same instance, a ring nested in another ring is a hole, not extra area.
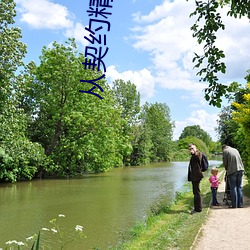
M 230 208 L 243 207 L 242 196 L 242 177 L 244 174 L 244 165 L 240 153 L 236 148 L 228 145 L 222 146 L 223 165 L 227 171 L 227 178 L 230 185 L 232 205 Z

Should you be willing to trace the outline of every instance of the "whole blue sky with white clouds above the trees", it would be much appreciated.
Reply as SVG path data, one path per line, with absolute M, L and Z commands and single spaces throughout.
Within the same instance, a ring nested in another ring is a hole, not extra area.
M 87 11 L 98 2 L 112 6 L 105 10 L 110 13 L 107 18 L 102 18 L 109 22 L 110 30 L 105 31 L 108 25 L 101 23 L 108 47 L 103 57 L 108 83 L 112 85 L 116 79 L 134 83 L 141 105 L 166 103 L 175 123 L 173 139 L 186 126 L 200 125 L 217 141 L 214 128 L 221 109 L 205 101 L 207 84 L 199 82 L 192 63 L 194 52 L 202 52 L 190 30 L 195 21 L 189 17 L 195 9 L 193 0 L 16 0 L 15 25 L 22 29 L 22 42 L 28 49 L 24 61 L 39 64 L 43 46 L 64 43 L 71 37 L 82 53 L 86 46 L 96 47 L 97 43 L 89 43 L 84 36 L 90 38 L 85 27 L 95 18 Z M 218 33 L 217 45 L 225 52 L 227 72 L 219 77 L 221 83 L 237 81 L 244 86 L 250 69 L 250 22 L 226 13 L 223 8 L 226 29 Z

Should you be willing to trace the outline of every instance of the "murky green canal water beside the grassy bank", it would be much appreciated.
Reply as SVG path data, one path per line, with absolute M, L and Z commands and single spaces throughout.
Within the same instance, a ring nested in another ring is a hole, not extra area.
M 211 166 L 220 163 L 210 161 Z M 87 237 L 63 249 L 108 249 L 136 222 L 144 220 L 156 202 L 165 198 L 171 202 L 187 182 L 187 165 L 169 162 L 116 168 L 80 179 L 0 184 L 0 248 L 5 249 L 9 240 L 26 242 L 42 228 L 58 230 L 50 222 L 56 219 L 61 234 L 41 231 L 45 249 L 60 249 L 59 245 L 74 237 L 76 225 L 83 226 Z

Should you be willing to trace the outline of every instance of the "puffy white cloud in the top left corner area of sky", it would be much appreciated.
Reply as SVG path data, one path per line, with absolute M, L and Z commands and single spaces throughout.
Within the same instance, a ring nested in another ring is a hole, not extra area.
M 63 29 L 73 25 L 72 14 L 49 0 L 17 0 L 21 21 L 35 29 Z

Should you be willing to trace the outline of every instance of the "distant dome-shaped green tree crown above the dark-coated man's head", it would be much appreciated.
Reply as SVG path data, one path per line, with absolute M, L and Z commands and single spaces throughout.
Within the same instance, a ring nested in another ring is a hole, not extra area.
M 179 140 L 188 137 L 188 136 L 193 136 L 193 137 L 197 137 L 200 140 L 202 140 L 203 142 L 205 142 L 205 144 L 207 145 L 207 147 L 209 147 L 209 145 L 212 142 L 212 138 L 211 136 L 204 131 L 200 125 L 193 125 L 193 126 L 187 126 L 183 129 Z

